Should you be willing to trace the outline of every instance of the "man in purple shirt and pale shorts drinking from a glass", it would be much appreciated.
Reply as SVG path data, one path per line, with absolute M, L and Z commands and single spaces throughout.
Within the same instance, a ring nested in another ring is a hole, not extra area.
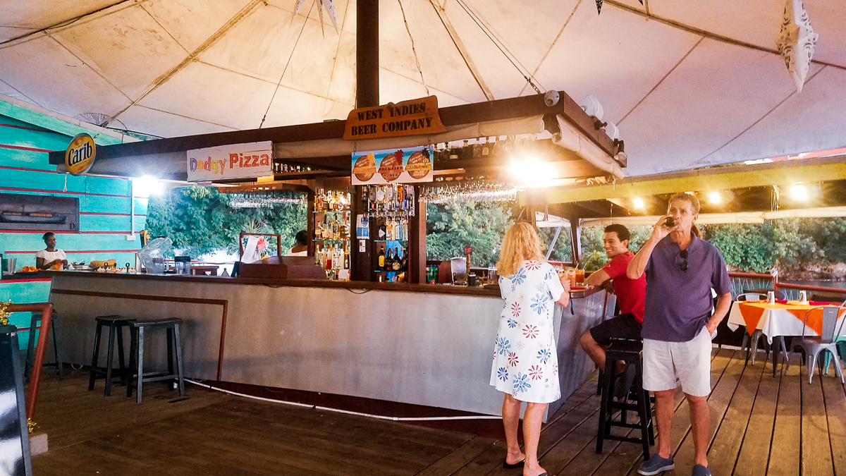
M 643 386 L 655 393 L 658 429 L 657 453 L 638 468 L 638 473 L 647 476 L 675 467 L 670 429 L 677 377 L 690 407 L 696 449 L 693 476 L 711 475 L 706 457 L 711 423 L 706 401 L 711 393 L 711 335 L 728 313 L 732 294 L 722 255 L 699 237 L 698 217 L 695 196 L 671 196 L 667 215 L 658 220 L 626 269 L 632 280 L 646 273 Z M 716 307 L 711 289 L 717 291 Z

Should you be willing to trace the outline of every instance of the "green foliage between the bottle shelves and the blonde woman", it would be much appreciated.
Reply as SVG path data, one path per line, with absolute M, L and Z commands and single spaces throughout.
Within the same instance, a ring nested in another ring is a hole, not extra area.
M 508 227 L 514 224 L 510 203 L 459 202 L 426 205 L 426 258 L 449 259 L 464 256 L 464 246 L 473 246 L 474 266 L 493 266 Z

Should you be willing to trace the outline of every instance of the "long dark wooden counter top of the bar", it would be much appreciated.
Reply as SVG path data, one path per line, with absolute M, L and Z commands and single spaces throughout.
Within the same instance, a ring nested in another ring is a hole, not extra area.
M 500 297 L 499 290 L 486 289 L 482 286 L 454 286 L 454 285 L 413 285 L 408 283 L 376 283 L 370 281 L 332 281 L 332 280 L 275 280 L 270 278 L 232 278 L 223 276 L 208 276 L 195 274 L 143 274 L 143 273 L 97 273 L 96 271 L 62 270 L 45 271 L 50 276 L 80 276 L 86 278 L 102 278 L 104 280 L 162 280 L 178 282 L 208 283 L 211 285 L 266 285 L 271 287 L 324 287 L 344 288 L 352 290 L 382 290 L 405 292 L 429 292 L 438 294 L 458 294 L 462 296 L 492 296 Z M 580 299 L 602 290 L 602 288 L 584 291 L 572 291 L 570 296 Z

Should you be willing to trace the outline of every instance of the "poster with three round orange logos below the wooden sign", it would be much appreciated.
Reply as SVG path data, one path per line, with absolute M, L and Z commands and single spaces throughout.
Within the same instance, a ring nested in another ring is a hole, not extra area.
M 353 185 L 415 184 L 432 180 L 429 146 L 353 153 Z

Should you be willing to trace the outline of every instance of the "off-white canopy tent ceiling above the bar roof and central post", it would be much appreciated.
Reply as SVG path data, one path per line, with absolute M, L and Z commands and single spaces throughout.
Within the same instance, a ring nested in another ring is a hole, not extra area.
M 354 2 L 335 0 L 338 30 L 322 31 L 316 4 L 295 4 L 8 0 L 0 93 L 166 137 L 255 129 L 265 114 L 263 127 L 343 119 Z M 819 41 L 797 93 L 776 51 L 783 0 L 606 0 L 602 14 L 592 0 L 381 0 L 380 98 L 535 94 L 527 76 L 591 94 L 626 141 L 627 175 L 844 147 L 846 8 L 805 8 Z

